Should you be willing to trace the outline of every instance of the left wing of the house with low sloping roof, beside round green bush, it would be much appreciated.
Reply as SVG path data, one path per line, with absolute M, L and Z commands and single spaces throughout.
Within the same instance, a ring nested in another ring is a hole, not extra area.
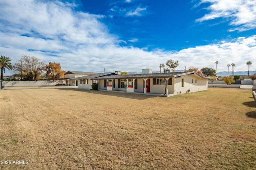
M 78 89 L 92 89 L 92 84 L 98 83 L 96 79 L 93 78 L 100 78 L 105 76 L 116 76 L 119 75 L 115 72 L 103 72 L 103 73 L 94 73 L 87 76 L 71 78 L 70 80 L 78 80 Z

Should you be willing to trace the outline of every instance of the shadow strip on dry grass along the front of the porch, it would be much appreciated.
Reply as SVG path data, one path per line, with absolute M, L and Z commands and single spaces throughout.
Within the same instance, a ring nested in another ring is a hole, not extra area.
M 105 91 L 98 91 L 98 90 L 84 90 L 84 89 L 77 89 L 77 88 L 56 88 L 58 90 L 72 90 L 72 91 L 80 91 L 80 92 L 86 92 L 91 94 L 100 94 L 100 95 L 106 95 L 106 96 L 115 96 L 115 97 L 122 97 L 122 98 L 130 98 L 130 99 L 136 99 L 136 100 L 144 100 L 148 98 L 155 98 L 156 96 L 148 96 L 143 94 L 130 94 L 130 93 L 118 93 L 118 92 L 105 92 Z

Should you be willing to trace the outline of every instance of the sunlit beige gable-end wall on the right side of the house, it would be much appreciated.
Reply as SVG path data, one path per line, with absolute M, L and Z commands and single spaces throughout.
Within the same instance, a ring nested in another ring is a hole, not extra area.
M 182 87 L 182 78 L 184 78 L 184 87 Z M 188 93 L 188 89 L 190 89 L 190 93 L 207 90 L 208 80 L 197 75 L 184 75 L 174 78 L 174 94 Z

